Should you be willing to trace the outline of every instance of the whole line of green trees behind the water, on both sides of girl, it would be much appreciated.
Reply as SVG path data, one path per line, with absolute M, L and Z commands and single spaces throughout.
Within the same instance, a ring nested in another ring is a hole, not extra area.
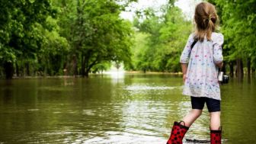
M 136 0 L 0 0 L 0 76 L 82 75 L 123 63 L 126 70 L 180 72 L 193 31 L 170 0 L 160 10 L 120 12 Z M 256 0 L 210 0 L 216 5 L 230 75 L 256 69 Z

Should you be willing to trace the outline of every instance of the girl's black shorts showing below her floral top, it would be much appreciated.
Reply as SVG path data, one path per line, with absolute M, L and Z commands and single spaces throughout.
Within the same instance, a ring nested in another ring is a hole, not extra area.
M 213 98 L 205 98 L 205 97 L 191 97 L 192 109 L 203 110 L 204 103 L 208 108 L 208 111 L 216 112 L 220 111 L 220 101 Z

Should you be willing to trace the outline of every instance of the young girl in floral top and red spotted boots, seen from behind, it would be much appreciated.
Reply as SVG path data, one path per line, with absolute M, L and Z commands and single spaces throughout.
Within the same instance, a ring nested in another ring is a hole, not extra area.
M 183 94 L 191 98 L 192 110 L 178 123 L 174 122 L 167 144 L 180 144 L 189 127 L 202 114 L 206 103 L 210 113 L 210 142 L 221 143 L 220 90 L 218 70 L 222 67 L 223 35 L 215 32 L 218 15 L 214 5 L 201 2 L 196 6 L 196 31 L 190 34 L 181 54 Z

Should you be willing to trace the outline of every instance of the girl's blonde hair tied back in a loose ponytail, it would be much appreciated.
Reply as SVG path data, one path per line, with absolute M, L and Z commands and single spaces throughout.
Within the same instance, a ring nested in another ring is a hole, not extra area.
M 219 17 L 214 5 L 209 2 L 198 4 L 195 9 L 194 21 L 196 22 L 194 39 L 203 41 L 206 36 L 207 40 L 211 40 L 211 35 L 219 23 Z

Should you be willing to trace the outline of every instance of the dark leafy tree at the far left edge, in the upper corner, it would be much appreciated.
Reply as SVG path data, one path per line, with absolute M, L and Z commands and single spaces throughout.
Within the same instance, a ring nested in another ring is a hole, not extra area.
M 35 58 L 43 41 L 39 27 L 47 29 L 46 18 L 55 12 L 49 0 L 1 0 L 0 7 L 0 60 L 12 78 L 15 62 Z

